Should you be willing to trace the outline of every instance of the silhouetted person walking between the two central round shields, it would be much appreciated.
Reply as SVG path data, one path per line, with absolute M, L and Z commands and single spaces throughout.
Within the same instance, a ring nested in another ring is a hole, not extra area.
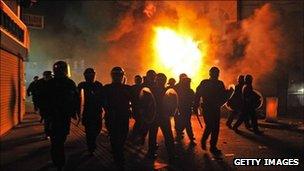
M 156 118 L 149 130 L 149 149 L 147 156 L 155 158 L 157 156 L 157 132 L 158 128 L 162 130 L 165 139 L 165 145 L 170 160 L 175 158 L 174 138 L 171 130 L 170 113 L 165 113 L 163 105 L 163 98 L 166 93 L 165 84 L 167 77 L 163 73 L 159 73 L 155 79 L 155 87 L 153 88 L 153 95 L 156 102 Z

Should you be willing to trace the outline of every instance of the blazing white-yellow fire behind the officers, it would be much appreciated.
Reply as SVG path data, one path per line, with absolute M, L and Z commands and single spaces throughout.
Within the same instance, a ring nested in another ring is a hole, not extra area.
M 202 79 L 202 66 L 205 53 L 200 42 L 186 34 L 178 33 L 170 28 L 154 28 L 155 68 L 164 72 L 167 77 L 178 79 L 179 74 L 186 73 L 192 78 L 192 87 Z

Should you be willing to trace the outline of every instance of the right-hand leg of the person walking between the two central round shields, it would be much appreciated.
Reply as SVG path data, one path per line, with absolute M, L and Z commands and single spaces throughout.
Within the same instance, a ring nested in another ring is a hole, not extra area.
M 167 153 L 169 157 L 175 157 L 175 147 L 174 147 L 174 138 L 171 130 L 170 118 L 163 118 L 160 123 L 160 128 L 164 135 L 165 144 L 167 148 Z

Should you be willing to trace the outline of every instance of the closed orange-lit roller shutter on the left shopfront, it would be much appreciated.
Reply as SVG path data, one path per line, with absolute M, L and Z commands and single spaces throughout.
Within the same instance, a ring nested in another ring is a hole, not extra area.
M 20 66 L 22 60 L 1 49 L 0 54 L 0 135 L 18 124 L 22 115 Z M 20 114 L 20 115 L 19 115 Z

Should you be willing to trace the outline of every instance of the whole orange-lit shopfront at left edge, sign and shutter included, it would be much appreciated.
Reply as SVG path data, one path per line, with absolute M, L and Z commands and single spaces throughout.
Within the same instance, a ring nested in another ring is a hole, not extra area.
M 21 122 L 25 113 L 25 69 L 29 33 L 21 21 L 20 2 L 0 4 L 0 136 Z

